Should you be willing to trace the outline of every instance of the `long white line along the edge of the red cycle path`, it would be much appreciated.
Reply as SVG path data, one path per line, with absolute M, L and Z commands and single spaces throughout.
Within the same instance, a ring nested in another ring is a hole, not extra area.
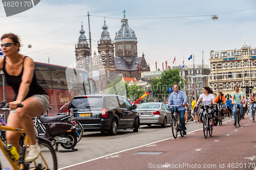
M 231 121 L 231 120 L 227 120 L 226 122 L 230 122 L 230 121 Z M 224 123 L 226 123 L 226 122 L 224 122 Z M 187 134 L 189 134 L 189 133 L 194 133 L 194 132 L 201 131 L 201 130 L 203 130 L 203 128 L 198 129 L 198 130 L 195 130 L 195 131 L 192 131 L 192 132 L 188 132 Z M 180 135 L 178 135 L 178 136 L 180 136 Z M 155 143 L 157 143 L 157 142 L 161 142 L 161 141 L 165 141 L 165 140 L 173 139 L 173 138 L 174 138 L 174 137 L 166 138 L 166 139 L 163 139 L 163 140 L 160 140 L 160 141 L 156 141 L 156 142 L 144 144 L 144 145 L 141 145 L 141 146 L 135 147 L 135 148 L 130 148 L 130 149 L 118 151 L 118 152 L 115 152 L 115 153 L 112 153 L 112 154 L 109 154 L 109 155 L 100 156 L 100 157 L 98 157 L 98 158 L 94 158 L 94 159 L 90 159 L 90 160 L 87 160 L 87 161 L 79 162 L 79 163 L 76 163 L 76 164 L 73 164 L 73 165 L 64 166 L 64 167 L 61 167 L 61 168 L 58 168 L 58 169 L 59 169 L 59 170 L 61 170 L 61 169 L 67 169 L 67 168 L 72 167 L 72 166 L 76 166 L 76 165 L 80 165 L 80 164 L 83 164 L 83 163 L 91 162 L 91 161 L 94 161 L 94 160 L 97 160 L 97 159 L 105 158 L 105 157 L 108 157 L 108 156 L 111 156 L 111 155 L 119 154 L 119 153 L 122 153 L 122 152 L 125 152 L 125 151 L 134 150 L 134 149 L 137 149 L 137 148 L 145 147 L 145 146 L 150 145 L 150 144 L 155 144 Z

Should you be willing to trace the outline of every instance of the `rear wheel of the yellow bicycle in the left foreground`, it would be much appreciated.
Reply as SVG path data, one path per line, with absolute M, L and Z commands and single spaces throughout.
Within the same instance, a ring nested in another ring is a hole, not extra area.
M 57 157 L 54 149 L 52 148 L 51 143 L 49 143 L 46 140 L 39 140 L 38 143 L 41 148 L 40 156 L 35 161 L 32 161 L 30 164 L 25 164 L 25 168 L 26 166 L 29 166 L 27 167 L 29 169 L 57 170 L 58 168 Z

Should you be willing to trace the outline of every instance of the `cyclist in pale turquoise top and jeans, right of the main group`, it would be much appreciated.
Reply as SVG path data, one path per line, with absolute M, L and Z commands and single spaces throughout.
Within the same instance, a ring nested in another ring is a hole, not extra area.
M 237 106 L 240 108 L 240 118 L 242 118 L 242 112 L 243 112 L 243 99 L 244 99 L 244 93 L 242 91 L 239 91 L 239 87 L 236 85 L 234 86 L 234 92 L 232 93 L 232 104 L 233 104 L 233 116 L 234 116 L 234 126 L 236 126 L 236 111 Z M 234 105 L 236 103 L 236 105 Z

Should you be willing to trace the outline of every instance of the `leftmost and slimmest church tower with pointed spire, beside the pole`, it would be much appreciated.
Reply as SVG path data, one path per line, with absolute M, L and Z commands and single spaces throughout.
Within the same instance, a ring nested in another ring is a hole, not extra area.
M 80 36 L 78 38 L 78 43 L 75 46 L 76 53 L 76 68 L 85 69 L 90 71 L 90 47 L 87 42 L 87 38 L 84 35 L 86 33 L 81 25 Z

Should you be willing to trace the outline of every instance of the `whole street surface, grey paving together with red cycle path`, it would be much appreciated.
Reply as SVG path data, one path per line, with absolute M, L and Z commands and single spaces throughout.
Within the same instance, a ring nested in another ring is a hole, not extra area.
M 159 164 L 167 163 L 165 166 L 168 167 L 168 163 L 183 162 L 190 165 L 197 163 L 200 165 L 218 164 L 218 166 L 220 166 L 219 163 L 225 163 L 225 166 L 228 163 L 242 163 L 248 167 L 249 163 L 255 163 L 253 156 L 255 155 L 256 137 L 251 135 L 251 132 L 256 122 L 251 122 L 248 116 L 242 120 L 240 128 L 233 126 L 231 118 L 224 119 L 224 122 L 226 123 L 223 126 L 215 127 L 213 136 L 208 136 L 207 139 L 204 138 L 202 124 L 191 122 L 186 124 L 188 134 L 177 139 L 173 139 L 170 126 L 164 129 L 154 125 L 141 126 L 138 133 L 132 130 L 121 131 L 116 136 L 109 136 L 108 133 L 87 132 L 77 144 L 77 152 L 57 152 L 59 169 L 88 169 L 86 167 L 90 169 L 119 169 L 120 167 L 122 169 L 148 169 Z M 65 149 L 59 146 L 59 150 Z M 164 153 L 160 155 L 135 154 L 138 152 Z M 6 161 L 3 161 L 1 156 L 0 159 L 2 163 L 4 162 L 4 167 L 7 167 Z M 82 164 L 73 166 L 79 163 Z

